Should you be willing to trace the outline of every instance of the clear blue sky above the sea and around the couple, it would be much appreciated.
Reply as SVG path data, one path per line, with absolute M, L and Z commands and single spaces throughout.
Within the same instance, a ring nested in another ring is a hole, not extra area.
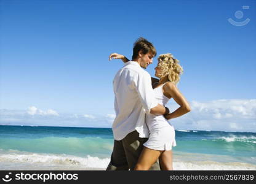
M 118 52 L 131 58 L 134 41 L 143 36 L 158 55 L 168 52 L 180 60 L 184 74 L 178 88 L 191 104 L 203 105 L 212 115 L 220 113 L 218 122 L 229 118 L 218 129 L 232 130 L 246 121 L 256 131 L 256 1 L 0 3 L 0 123 L 60 126 L 57 121 L 65 121 L 66 126 L 110 127 L 112 80 L 122 62 L 108 61 L 108 55 Z M 237 11 L 242 18 L 236 17 Z M 228 18 L 250 21 L 235 26 Z M 146 69 L 151 75 L 156 63 L 154 58 Z M 226 109 L 219 100 L 225 100 Z M 202 129 L 202 108 L 194 108 L 186 121 Z M 238 113 L 244 119 L 234 118 Z M 207 118 L 205 124 L 212 125 L 210 114 Z

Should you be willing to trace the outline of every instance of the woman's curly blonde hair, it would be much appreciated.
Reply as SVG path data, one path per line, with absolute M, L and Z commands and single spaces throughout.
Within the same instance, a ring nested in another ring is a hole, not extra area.
M 180 80 L 180 75 L 183 73 L 183 68 L 178 63 L 180 61 L 175 59 L 170 53 L 159 55 L 158 66 L 162 69 L 161 77 L 167 75 L 170 82 L 177 84 Z

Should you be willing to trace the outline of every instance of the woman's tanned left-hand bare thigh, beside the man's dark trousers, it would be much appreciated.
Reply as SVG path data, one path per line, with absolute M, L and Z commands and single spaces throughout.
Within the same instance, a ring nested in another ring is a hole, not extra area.
M 144 147 L 140 157 L 138 158 L 138 162 L 134 167 L 135 171 L 146 171 L 150 169 L 150 167 L 157 161 L 162 151 L 159 150 L 151 150 L 150 148 Z

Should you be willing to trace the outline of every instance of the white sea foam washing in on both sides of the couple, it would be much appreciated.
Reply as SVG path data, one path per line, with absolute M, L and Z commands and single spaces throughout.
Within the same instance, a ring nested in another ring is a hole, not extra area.
M 110 158 L 54 155 L 20 152 L 0 155 L 0 169 L 14 170 L 105 170 Z M 174 159 L 174 170 L 255 170 L 247 163 L 220 163 L 216 161 L 180 161 Z

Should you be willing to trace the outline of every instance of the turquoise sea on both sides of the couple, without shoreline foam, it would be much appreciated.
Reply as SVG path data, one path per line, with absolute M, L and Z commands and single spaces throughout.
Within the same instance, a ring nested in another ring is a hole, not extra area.
M 194 157 L 199 154 L 196 160 L 203 161 L 204 155 L 211 161 L 256 164 L 256 133 L 253 132 L 176 130 L 175 139 L 174 156 L 193 153 Z M 30 154 L 26 159 L 35 154 L 44 155 L 42 158 L 53 154 L 105 159 L 110 158 L 112 149 L 110 128 L 0 126 L 0 162 L 9 161 L 12 154 L 17 158 Z

